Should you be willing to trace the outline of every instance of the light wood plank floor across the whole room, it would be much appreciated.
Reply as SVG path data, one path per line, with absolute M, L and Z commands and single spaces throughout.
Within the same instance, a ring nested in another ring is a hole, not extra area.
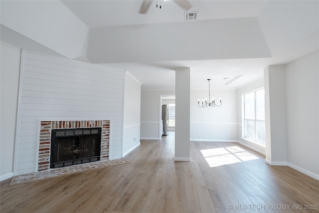
M 271 167 L 237 143 L 191 142 L 191 162 L 174 162 L 173 156 L 174 132 L 169 132 L 161 141 L 142 140 L 126 156 L 129 164 L 11 187 L 10 180 L 2 181 L 0 211 L 319 212 L 318 206 L 305 210 L 319 205 L 319 181 L 288 167 Z

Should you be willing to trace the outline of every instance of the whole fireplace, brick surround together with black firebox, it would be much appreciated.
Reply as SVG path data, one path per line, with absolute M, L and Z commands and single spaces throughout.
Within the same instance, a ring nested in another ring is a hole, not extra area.
M 40 121 L 37 171 L 109 159 L 110 120 Z

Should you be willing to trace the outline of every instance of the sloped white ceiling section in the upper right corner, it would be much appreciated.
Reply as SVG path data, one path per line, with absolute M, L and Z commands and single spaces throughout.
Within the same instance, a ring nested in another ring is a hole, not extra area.
M 318 8 L 316 0 L 267 1 L 257 19 L 269 50 L 278 62 L 291 61 L 319 48 Z

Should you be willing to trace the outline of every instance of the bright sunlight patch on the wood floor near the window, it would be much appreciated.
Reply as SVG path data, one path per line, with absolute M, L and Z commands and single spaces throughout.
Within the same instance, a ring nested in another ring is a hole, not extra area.
M 258 159 L 238 146 L 200 150 L 209 167 L 218 167 Z

